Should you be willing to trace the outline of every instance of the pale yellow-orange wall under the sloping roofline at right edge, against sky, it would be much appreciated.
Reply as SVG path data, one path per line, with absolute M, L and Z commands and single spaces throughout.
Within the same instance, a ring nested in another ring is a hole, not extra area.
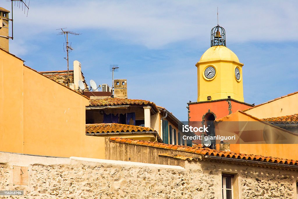
M 272 118 L 298 113 L 298 92 L 243 111 L 257 118 Z

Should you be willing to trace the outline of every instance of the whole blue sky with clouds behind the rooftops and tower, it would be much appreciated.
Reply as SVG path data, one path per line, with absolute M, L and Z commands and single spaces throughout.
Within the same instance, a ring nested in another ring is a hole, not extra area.
M 11 10 L 10 3 L 1 7 Z M 297 1 L 30 1 L 28 17 L 14 7 L 10 53 L 38 71 L 66 70 L 69 36 L 87 82 L 128 80 L 128 98 L 146 99 L 187 121 L 196 101 L 195 64 L 210 47 L 210 30 L 226 30 L 226 45 L 243 67 L 244 100 L 260 104 L 298 90 Z

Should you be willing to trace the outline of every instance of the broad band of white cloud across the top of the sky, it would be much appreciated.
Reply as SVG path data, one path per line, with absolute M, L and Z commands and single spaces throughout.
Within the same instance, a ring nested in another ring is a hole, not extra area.
M 217 7 L 219 24 L 226 29 L 228 43 L 297 41 L 294 37 L 298 32 L 295 1 L 31 2 L 27 18 L 15 8 L 14 28 L 24 38 L 54 34 L 55 29 L 61 27 L 77 32 L 105 30 L 115 39 L 160 48 L 194 38 L 209 40 L 210 30 L 217 22 Z

